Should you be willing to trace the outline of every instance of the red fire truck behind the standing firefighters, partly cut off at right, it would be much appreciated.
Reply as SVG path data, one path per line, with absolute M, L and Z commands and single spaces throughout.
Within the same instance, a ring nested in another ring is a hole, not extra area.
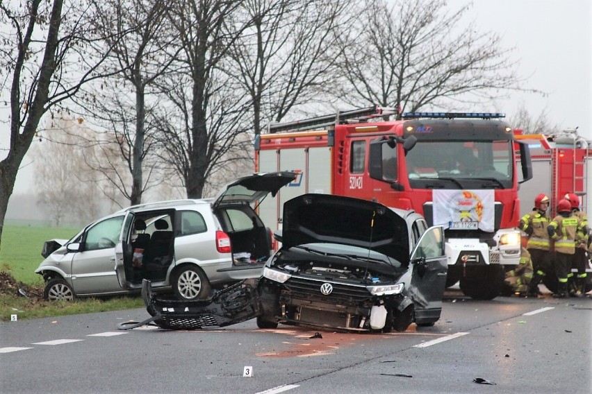
M 539 193 L 551 198 L 550 214 L 557 214 L 557 203 L 568 193 L 579 196 L 584 212 L 589 214 L 591 194 L 588 178 L 592 167 L 592 141 L 580 137 L 575 130 L 555 135 L 523 134 L 514 130 L 516 140 L 528 144 L 532 157 L 532 172 L 536 182 L 521 185 L 518 196 L 523 204 L 521 214 L 532 209 L 534 197 Z M 592 290 L 592 266 L 587 268 L 586 291 Z M 543 283 L 550 291 L 557 291 L 554 273 L 545 276 Z

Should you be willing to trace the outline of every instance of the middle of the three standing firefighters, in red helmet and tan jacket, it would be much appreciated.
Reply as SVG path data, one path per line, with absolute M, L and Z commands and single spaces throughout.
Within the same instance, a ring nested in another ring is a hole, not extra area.
M 559 286 L 554 298 L 568 297 L 568 274 L 575 256 L 575 246 L 588 241 L 582 231 L 582 220 L 571 212 L 571 204 L 563 199 L 557 205 L 559 213 L 548 225 L 549 236 L 555 241 L 555 271 Z

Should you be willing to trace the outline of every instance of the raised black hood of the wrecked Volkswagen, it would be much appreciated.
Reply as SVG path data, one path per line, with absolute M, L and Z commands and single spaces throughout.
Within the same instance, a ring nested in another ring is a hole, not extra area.
M 405 220 L 372 201 L 328 194 L 304 194 L 283 205 L 283 248 L 304 243 L 343 243 L 409 261 Z

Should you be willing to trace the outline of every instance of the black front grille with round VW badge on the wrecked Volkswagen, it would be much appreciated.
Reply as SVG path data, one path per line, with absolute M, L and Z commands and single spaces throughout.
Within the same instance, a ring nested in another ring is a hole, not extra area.
M 320 292 L 320 286 L 323 283 L 330 283 L 333 286 L 331 294 L 324 295 Z M 365 286 L 354 286 L 350 284 L 342 284 L 323 280 L 309 280 L 304 277 L 290 277 L 290 279 L 283 284 L 286 288 L 294 293 L 302 293 L 305 295 L 313 295 L 315 298 L 322 298 L 323 300 L 337 302 L 364 302 L 370 300 L 372 295 L 366 290 Z

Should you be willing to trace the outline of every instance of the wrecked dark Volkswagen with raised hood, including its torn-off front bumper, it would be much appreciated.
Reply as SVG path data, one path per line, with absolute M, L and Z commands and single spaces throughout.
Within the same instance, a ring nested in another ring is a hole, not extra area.
M 427 228 L 416 212 L 305 194 L 284 204 L 283 228 L 275 236 L 281 248 L 263 276 L 211 300 L 158 300 L 145 283 L 151 320 L 169 329 L 256 318 L 260 328 L 389 332 L 440 318 L 447 272 L 443 228 Z

